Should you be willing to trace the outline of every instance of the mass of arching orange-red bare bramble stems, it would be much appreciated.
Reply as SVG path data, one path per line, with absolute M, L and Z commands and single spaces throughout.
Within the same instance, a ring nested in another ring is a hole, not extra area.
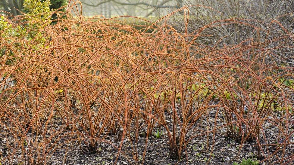
M 176 11 L 156 23 L 141 19 L 146 23 L 139 27 L 70 14 L 51 24 L 49 6 L 48 0 L 27 0 L 27 14 L 1 17 L 0 125 L 8 136 L 1 161 L 42 164 L 59 148 L 96 153 L 107 143 L 117 150 L 116 162 L 121 155 L 144 162 L 152 134 L 167 139 L 170 158 L 180 160 L 192 139 L 214 140 L 222 128 L 241 149 L 254 142 L 262 162 L 292 160 L 278 151 L 292 144 L 293 69 L 266 60 L 281 47 L 293 49 L 293 34 L 279 23 L 283 31 L 219 20 L 181 33 L 167 24 Z M 180 9 L 186 26 L 188 10 Z M 268 39 L 202 43 L 199 36 L 219 22 L 250 26 Z M 273 42 L 277 46 L 265 48 Z M 15 83 L 4 88 L 9 78 Z M 210 112 L 214 127 L 197 131 Z M 268 142 L 268 123 L 278 144 Z M 145 148 L 137 148 L 139 137 Z M 127 142 L 131 150 L 125 152 Z

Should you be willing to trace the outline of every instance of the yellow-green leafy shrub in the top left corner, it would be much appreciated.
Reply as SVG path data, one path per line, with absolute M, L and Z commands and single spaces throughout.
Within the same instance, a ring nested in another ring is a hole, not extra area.
M 41 2 L 39 0 L 25 0 L 24 10 L 27 12 L 24 20 L 20 20 L 20 24 L 13 25 L 9 23 L 5 17 L 0 17 L 0 37 L 5 38 L 6 43 L 13 43 L 14 45 L 25 46 L 33 50 L 39 50 L 44 47 L 44 43 L 47 38 L 44 37 L 42 29 L 50 23 L 50 1 L 46 0 Z M 22 24 L 21 21 L 27 21 Z M 20 40 L 32 41 L 27 45 L 20 45 Z M 7 50 L 6 46 L 0 48 L 0 57 L 5 54 Z M 14 56 L 14 53 L 9 51 L 8 56 Z M 11 60 L 7 61 L 11 63 Z

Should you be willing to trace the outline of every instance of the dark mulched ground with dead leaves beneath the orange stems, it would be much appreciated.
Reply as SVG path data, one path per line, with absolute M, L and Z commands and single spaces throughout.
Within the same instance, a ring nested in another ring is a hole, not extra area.
M 192 130 L 190 130 L 187 137 L 190 137 L 192 135 L 199 136 L 195 137 L 188 143 L 183 153 L 183 156 L 179 162 L 178 160 L 173 160 L 169 158 L 168 138 L 164 133 L 160 138 L 156 138 L 155 135 L 150 136 L 147 143 L 144 164 L 233 164 L 233 162 L 240 162 L 243 158 L 256 159 L 258 152 L 258 148 L 255 146 L 256 142 L 246 142 L 242 145 L 242 149 L 240 150 L 240 144 L 232 139 L 229 139 L 226 136 L 227 130 L 225 127 L 217 130 L 218 133 L 216 133 L 214 137 L 213 133 L 205 133 L 205 130 L 211 130 L 212 128 L 214 128 L 215 115 L 216 112 L 214 110 L 210 111 L 206 115 L 203 115 L 203 118 L 199 119 L 199 121 L 196 123 L 197 125 L 195 124 L 195 127 L 193 127 Z M 221 119 L 223 117 L 222 115 L 218 114 L 218 118 Z M 292 118 L 293 120 L 293 116 L 290 116 L 290 118 Z M 60 119 L 56 118 L 56 120 Z M 171 120 L 171 118 L 167 120 Z M 56 122 L 55 127 L 61 127 L 61 124 L 61 122 Z M 217 122 L 218 126 L 222 124 L 223 123 L 220 123 L 220 121 Z M 156 129 L 157 128 L 155 128 L 155 130 Z M 294 124 L 290 124 L 289 131 L 293 130 Z M 0 134 L 0 153 L 3 156 L 7 156 L 8 150 L 10 150 L 6 147 L 7 142 L 13 141 L 13 139 L 8 140 L 9 138 L 13 138 L 13 136 L 9 135 L 7 128 L 2 127 L 1 132 L 2 133 Z M 276 127 L 268 127 L 265 130 L 265 135 L 267 136 L 268 140 L 267 143 L 275 144 L 275 142 L 277 141 L 277 134 L 278 130 Z M 106 139 L 109 141 L 113 141 L 114 136 L 107 136 Z M 294 136 L 290 139 L 290 141 L 294 142 Z M 62 142 L 64 142 L 63 139 L 59 140 L 59 143 Z M 135 137 L 133 137 L 133 144 L 135 142 Z M 136 152 L 138 154 L 137 159 L 139 160 L 139 164 L 142 164 L 145 143 L 145 137 L 138 137 Z M 120 142 L 115 143 L 114 145 L 119 147 Z M 135 147 L 135 145 L 133 145 L 133 147 Z M 98 152 L 95 154 L 90 154 L 86 151 L 83 151 L 83 149 L 85 148 L 86 146 L 83 144 L 80 148 L 77 141 L 61 145 L 57 148 L 55 153 L 53 153 L 52 157 L 50 157 L 47 160 L 47 163 L 56 165 L 114 164 L 116 160 L 117 149 L 110 144 L 102 142 L 101 144 L 99 144 Z M 273 153 L 275 150 L 275 146 L 269 147 L 270 153 Z M 265 148 L 264 151 L 265 153 L 267 153 L 267 150 Z M 294 145 L 288 145 L 288 147 L 285 149 L 284 157 L 288 157 L 293 154 Z M 66 159 L 64 159 L 65 155 Z M 282 150 L 280 150 L 277 154 L 272 156 L 270 160 L 261 164 L 269 164 L 273 163 L 274 161 L 278 161 L 278 158 L 281 155 Z M 17 162 L 17 158 L 15 158 L 15 162 Z M 132 148 L 127 138 L 125 138 L 124 140 L 124 145 L 118 157 L 117 164 L 135 164 L 132 154 Z M 293 162 L 289 164 L 293 164 Z

